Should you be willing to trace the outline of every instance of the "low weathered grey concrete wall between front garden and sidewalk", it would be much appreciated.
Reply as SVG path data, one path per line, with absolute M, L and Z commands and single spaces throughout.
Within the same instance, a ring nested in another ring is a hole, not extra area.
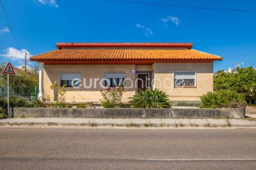
M 11 108 L 14 118 L 245 118 L 245 108 Z

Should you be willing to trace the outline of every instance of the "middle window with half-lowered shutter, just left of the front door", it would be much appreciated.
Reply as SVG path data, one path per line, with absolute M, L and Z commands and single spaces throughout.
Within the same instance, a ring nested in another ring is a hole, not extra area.
M 118 87 L 124 86 L 123 82 L 125 79 L 124 73 L 107 73 L 105 74 L 105 86 Z

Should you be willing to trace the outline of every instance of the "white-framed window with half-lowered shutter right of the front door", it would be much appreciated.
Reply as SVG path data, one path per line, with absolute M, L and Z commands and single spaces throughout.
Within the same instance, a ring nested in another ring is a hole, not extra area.
M 175 72 L 174 85 L 191 87 L 196 86 L 196 73 L 195 72 Z

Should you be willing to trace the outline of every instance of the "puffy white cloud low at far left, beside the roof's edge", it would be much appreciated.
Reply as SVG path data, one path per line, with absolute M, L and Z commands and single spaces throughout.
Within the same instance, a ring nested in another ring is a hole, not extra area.
M 29 57 L 32 57 L 32 55 L 29 54 L 28 50 L 21 49 L 17 50 L 14 47 L 9 47 L 6 50 L 4 50 L 5 54 L 0 54 L 1 57 L 8 57 L 11 60 L 24 60 L 25 59 L 25 52 L 27 53 L 27 60 Z

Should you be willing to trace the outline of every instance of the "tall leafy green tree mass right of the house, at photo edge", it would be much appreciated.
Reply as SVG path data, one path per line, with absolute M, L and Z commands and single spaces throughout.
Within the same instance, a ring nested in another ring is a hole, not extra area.
M 238 68 L 237 73 L 218 72 L 214 76 L 214 91 L 221 89 L 245 94 L 245 101 L 256 104 L 256 70 L 252 67 Z

